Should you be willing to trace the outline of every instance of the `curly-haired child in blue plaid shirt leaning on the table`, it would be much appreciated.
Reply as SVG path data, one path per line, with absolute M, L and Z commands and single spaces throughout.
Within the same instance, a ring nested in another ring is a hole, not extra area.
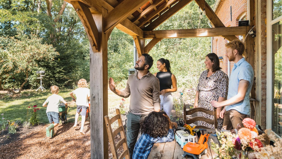
M 174 140 L 172 124 L 165 112 L 153 111 L 140 124 L 143 134 L 134 147 L 133 159 L 148 158 L 154 143 Z

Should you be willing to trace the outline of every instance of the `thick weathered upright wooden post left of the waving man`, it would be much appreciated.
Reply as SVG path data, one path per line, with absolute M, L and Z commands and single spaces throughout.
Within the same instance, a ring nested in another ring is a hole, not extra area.
M 103 31 L 104 16 L 107 10 L 102 8 L 102 13 L 92 14 L 99 32 L 100 45 L 98 52 L 93 52 L 90 47 L 90 128 L 91 128 L 91 158 L 108 158 L 108 136 L 104 116 L 108 115 L 108 59 L 107 44 L 112 32 Z

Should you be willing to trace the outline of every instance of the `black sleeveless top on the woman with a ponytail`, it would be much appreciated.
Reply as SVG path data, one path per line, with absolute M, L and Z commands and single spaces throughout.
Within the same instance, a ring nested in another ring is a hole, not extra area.
M 163 89 L 171 89 L 172 81 L 171 81 L 171 75 L 170 72 L 157 72 L 157 78 L 160 81 L 160 91 Z

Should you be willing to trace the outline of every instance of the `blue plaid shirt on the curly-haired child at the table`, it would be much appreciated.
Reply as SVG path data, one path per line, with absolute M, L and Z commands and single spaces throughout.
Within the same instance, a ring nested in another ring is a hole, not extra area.
M 168 130 L 168 135 L 164 137 L 153 138 L 149 134 L 142 134 L 135 144 L 133 159 L 148 158 L 154 143 L 171 142 L 174 140 L 173 129 Z

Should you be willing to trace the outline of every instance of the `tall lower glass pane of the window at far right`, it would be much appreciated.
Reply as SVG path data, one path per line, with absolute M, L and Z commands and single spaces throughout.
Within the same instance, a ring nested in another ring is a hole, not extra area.
M 272 25 L 272 130 L 282 135 L 282 20 Z

